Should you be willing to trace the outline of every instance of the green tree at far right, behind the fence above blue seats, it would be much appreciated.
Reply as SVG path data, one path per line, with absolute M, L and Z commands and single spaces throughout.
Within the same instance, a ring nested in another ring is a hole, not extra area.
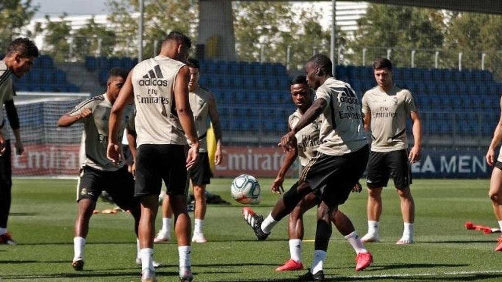
M 486 67 L 501 74 L 502 17 L 475 13 L 454 13 L 448 22 L 444 49 L 446 66 L 458 67 L 462 52 L 463 68 L 481 68 L 481 54 L 486 53 Z

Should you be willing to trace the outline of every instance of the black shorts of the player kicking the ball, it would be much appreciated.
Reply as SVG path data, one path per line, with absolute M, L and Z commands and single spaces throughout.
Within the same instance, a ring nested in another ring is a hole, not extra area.
M 368 162 L 369 148 L 342 156 L 317 153 L 305 167 L 300 180 L 330 208 L 345 203 L 350 191 L 359 181 Z

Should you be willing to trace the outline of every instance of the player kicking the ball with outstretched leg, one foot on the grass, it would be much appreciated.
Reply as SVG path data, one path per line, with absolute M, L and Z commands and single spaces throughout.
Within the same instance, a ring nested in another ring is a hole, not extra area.
M 307 83 L 317 90 L 316 100 L 281 138 L 282 148 L 293 150 L 295 135 L 323 114 L 325 120 L 319 128 L 321 144 L 305 166 L 300 181 L 284 193 L 265 219 L 248 209 L 242 210 L 244 220 L 258 239 L 265 240 L 277 222 L 291 213 L 305 195 L 314 192 L 320 196 L 314 259 L 309 271 L 299 277 L 303 281 L 324 280 L 323 262 L 331 237 L 331 215 L 347 200 L 366 168 L 369 155 L 359 100 L 349 84 L 334 79 L 331 68 L 331 60 L 321 54 L 306 63 Z

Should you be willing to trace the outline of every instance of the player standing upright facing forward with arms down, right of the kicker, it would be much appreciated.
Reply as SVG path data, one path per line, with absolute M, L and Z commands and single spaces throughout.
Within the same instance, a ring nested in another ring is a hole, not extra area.
M 392 63 L 388 59 L 376 59 L 373 72 L 377 87 L 362 97 L 364 128 L 371 131 L 373 139 L 369 155 L 366 183 L 368 187 L 368 233 L 363 242 L 380 240 L 379 221 L 382 215 L 382 190 L 394 179 L 394 186 L 401 200 L 404 231 L 397 244 L 413 243 L 415 203 L 410 191 L 410 163 L 420 161 L 422 125 L 417 106 L 410 91 L 397 87 L 393 82 Z M 406 119 L 413 121 L 415 144 L 408 152 Z

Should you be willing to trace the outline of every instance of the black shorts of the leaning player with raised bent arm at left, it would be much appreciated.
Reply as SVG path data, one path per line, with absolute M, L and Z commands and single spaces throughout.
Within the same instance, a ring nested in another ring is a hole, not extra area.
M 140 199 L 134 197 L 134 178 L 127 166 L 114 172 L 84 166 L 78 183 L 77 202 L 82 199 L 96 202 L 104 190 L 123 210 L 140 205 Z

